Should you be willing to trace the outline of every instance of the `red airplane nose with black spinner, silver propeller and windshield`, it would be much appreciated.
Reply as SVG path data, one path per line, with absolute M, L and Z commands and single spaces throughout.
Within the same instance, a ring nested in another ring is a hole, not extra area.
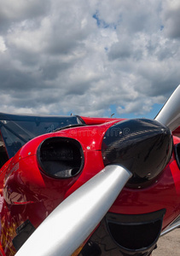
M 0 113 L 0 255 L 150 255 L 180 224 L 179 98 L 155 119 Z

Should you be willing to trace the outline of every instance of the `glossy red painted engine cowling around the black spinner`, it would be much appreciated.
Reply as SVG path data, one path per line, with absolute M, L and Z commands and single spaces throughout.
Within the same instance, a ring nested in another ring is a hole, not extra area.
M 1 243 L 6 255 L 15 254 L 12 239 L 16 236 L 15 230 L 20 224 L 29 219 L 37 228 L 61 201 L 103 169 L 103 135 L 119 119 L 83 119 L 90 126 L 37 137 L 26 143 L 15 157 L 2 167 L 0 183 L 5 201 L 1 212 Z M 100 123 L 103 124 L 98 125 Z M 48 137 L 72 137 L 81 143 L 84 150 L 84 168 L 76 177 L 54 179 L 41 172 L 37 150 L 39 144 Z M 180 143 L 180 139 L 174 137 L 174 143 Z M 180 214 L 180 170 L 174 154 L 151 186 L 146 189 L 123 189 L 109 211 L 141 214 L 163 208 L 166 209 L 163 222 L 165 229 Z M 0 245 L 0 252 L 1 250 Z

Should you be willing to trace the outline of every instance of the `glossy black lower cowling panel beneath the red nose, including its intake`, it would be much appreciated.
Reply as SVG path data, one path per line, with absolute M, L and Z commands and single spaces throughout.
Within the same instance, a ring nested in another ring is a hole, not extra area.
M 78 256 L 149 256 L 164 215 L 165 209 L 137 215 L 108 212 Z

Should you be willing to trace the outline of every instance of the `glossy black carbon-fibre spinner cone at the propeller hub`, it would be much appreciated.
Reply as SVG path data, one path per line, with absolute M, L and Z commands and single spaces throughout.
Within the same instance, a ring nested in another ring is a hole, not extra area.
M 163 171 L 172 153 L 171 131 L 151 119 L 130 119 L 111 126 L 102 142 L 104 165 L 119 164 L 133 173 L 130 187 L 146 186 Z

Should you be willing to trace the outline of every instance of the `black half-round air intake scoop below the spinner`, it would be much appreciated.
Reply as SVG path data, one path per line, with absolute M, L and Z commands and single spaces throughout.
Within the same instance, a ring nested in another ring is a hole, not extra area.
M 164 215 L 165 209 L 138 215 L 108 212 L 107 230 L 121 252 L 146 255 L 153 250 L 160 236 Z

